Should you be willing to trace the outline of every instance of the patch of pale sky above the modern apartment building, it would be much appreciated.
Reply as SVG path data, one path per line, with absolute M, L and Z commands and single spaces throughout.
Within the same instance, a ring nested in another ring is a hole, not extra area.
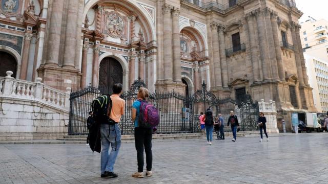
M 301 21 L 305 21 L 308 16 L 313 18 L 328 20 L 328 0 L 295 0 L 296 6 L 303 12 Z

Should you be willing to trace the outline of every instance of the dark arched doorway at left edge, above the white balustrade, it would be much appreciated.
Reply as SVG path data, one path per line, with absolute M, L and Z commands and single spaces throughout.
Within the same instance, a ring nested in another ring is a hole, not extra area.
M 0 51 L 0 77 L 6 77 L 7 71 L 12 71 L 11 77 L 16 78 L 17 73 L 17 61 L 16 59 L 7 52 Z

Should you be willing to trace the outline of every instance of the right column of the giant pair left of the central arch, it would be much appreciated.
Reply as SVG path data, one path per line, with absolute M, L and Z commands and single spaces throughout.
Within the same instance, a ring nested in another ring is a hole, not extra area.
M 69 0 L 64 53 L 64 67 L 74 67 L 78 0 Z

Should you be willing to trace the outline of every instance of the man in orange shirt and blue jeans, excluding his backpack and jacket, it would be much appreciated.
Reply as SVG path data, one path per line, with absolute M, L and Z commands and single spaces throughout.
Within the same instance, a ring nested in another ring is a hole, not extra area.
M 114 178 L 118 176 L 114 173 L 114 164 L 121 145 L 121 131 L 118 123 L 125 109 L 125 100 L 119 97 L 121 94 L 122 84 L 114 84 L 113 95 L 110 96 L 113 105 L 111 111 L 108 110 L 110 121 L 100 125 L 101 147 L 103 148 L 100 159 L 101 177 Z M 112 149 L 109 152 L 110 146 Z

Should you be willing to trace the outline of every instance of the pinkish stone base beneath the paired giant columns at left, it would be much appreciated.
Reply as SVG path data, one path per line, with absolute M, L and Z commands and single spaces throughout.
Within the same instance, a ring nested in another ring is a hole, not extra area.
M 40 65 L 37 69 L 38 76 L 43 83 L 60 90 L 66 87 L 78 89 L 80 87 L 81 74 L 76 69 L 60 68 L 53 65 Z

